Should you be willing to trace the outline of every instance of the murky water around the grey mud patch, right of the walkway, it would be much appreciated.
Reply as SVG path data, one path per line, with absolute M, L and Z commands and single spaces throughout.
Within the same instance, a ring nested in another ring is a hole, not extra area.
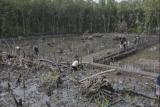
M 149 71 L 154 72 L 153 67 L 145 68 L 144 66 L 141 66 L 137 64 L 136 62 L 139 59 L 151 59 L 151 60 L 158 60 L 159 59 L 159 48 L 158 44 L 150 46 L 138 53 L 132 54 L 128 57 L 125 57 L 123 59 L 118 60 L 120 62 L 120 66 L 124 68 L 134 69 L 137 70 L 137 72 L 140 71 Z M 155 72 L 158 72 L 159 70 L 155 69 Z

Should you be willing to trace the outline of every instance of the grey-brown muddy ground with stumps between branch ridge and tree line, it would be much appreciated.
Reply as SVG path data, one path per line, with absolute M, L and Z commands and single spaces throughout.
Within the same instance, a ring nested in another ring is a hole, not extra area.
M 37 45 L 39 47 L 38 58 L 69 61 L 69 59 L 73 60 L 76 56 L 80 57 L 105 49 L 119 48 L 119 41 L 113 40 L 114 36 L 115 34 L 103 34 L 101 37 L 93 36 L 91 40 L 82 40 L 82 35 L 42 36 L 34 39 L 19 37 L 19 39 L 1 39 L 0 47 L 4 51 L 12 51 L 15 54 L 15 47 L 20 46 L 26 56 L 35 56 L 34 46 Z M 126 37 L 132 45 L 133 38 L 137 35 L 126 36 L 121 34 L 119 36 Z M 142 36 L 141 42 L 148 39 L 150 39 L 148 36 Z

